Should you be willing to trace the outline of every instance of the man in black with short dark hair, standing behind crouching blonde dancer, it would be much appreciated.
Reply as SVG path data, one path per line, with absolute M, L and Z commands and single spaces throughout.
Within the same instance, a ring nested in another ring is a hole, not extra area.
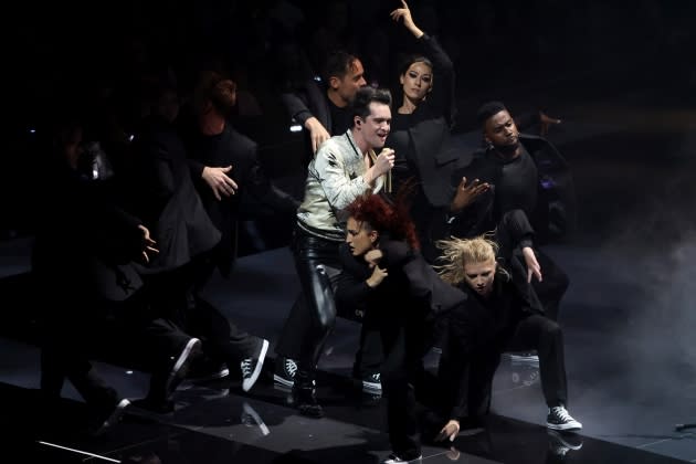
M 507 212 L 521 210 L 534 228 L 534 251 L 544 276 L 532 284 L 546 314 L 557 320 L 558 306 L 569 285 L 568 276 L 538 245 L 563 238 L 576 225 L 570 168 L 548 140 L 520 134 L 503 103 L 485 103 L 477 118 L 486 147 L 474 154 L 468 166 L 455 171 L 452 184 L 466 177 L 489 184 L 489 189 L 468 204 L 454 205 L 450 234 L 479 235 L 494 230 Z

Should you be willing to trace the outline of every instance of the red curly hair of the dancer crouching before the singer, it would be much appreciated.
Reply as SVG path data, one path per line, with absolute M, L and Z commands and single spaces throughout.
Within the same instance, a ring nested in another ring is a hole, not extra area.
M 358 222 L 367 223 L 380 234 L 388 234 L 393 240 L 404 240 L 413 250 L 420 250 L 415 225 L 409 208 L 398 196 L 394 202 L 370 191 L 355 199 L 345 212 Z

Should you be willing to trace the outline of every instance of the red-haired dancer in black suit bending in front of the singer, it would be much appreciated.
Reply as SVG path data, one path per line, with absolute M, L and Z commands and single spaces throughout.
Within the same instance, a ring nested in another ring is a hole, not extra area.
M 415 402 L 415 390 L 423 386 L 422 358 L 434 342 L 437 319 L 466 300 L 420 254 L 402 198 L 394 205 L 380 194 L 366 193 L 347 207 L 347 246 L 341 249 L 344 271 L 336 291 L 339 307 L 365 307 L 366 318 L 375 319 L 380 329 L 393 451 L 383 463 L 422 457 Z

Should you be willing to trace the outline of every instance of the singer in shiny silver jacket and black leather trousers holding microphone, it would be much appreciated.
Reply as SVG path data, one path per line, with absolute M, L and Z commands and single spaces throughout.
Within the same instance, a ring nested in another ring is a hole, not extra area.
M 352 127 L 321 144 L 308 167 L 292 243 L 303 295 L 295 302 L 276 347 L 278 355 L 297 360 L 293 396 L 306 415 L 323 415 L 315 398 L 315 369 L 336 318 L 333 297 L 325 292 L 317 265 L 329 271 L 340 268 L 345 230 L 338 212 L 366 191 L 380 191 L 389 181 L 394 154 L 382 148 L 391 124 L 390 105 L 389 91 L 360 88 L 351 105 Z M 377 149 L 382 149 L 379 155 Z

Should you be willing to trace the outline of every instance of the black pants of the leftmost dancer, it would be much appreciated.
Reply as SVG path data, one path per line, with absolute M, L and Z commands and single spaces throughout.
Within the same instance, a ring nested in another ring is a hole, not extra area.
M 51 306 L 42 317 L 41 390 L 49 398 L 61 396 L 67 378 L 87 404 L 113 407 L 117 393 L 98 376 L 92 358 L 168 373 L 169 360 L 190 339 L 169 320 L 149 313 L 143 291 L 123 302 L 108 302 L 77 291 L 52 289 L 61 310 Z

